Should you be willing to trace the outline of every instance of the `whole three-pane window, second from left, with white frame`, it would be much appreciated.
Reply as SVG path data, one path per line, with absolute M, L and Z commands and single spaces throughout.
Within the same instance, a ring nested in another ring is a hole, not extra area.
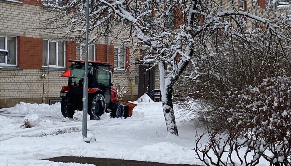
M 65 67 L 65 42 L 43 40 L 42 66 L 52 68 Z

